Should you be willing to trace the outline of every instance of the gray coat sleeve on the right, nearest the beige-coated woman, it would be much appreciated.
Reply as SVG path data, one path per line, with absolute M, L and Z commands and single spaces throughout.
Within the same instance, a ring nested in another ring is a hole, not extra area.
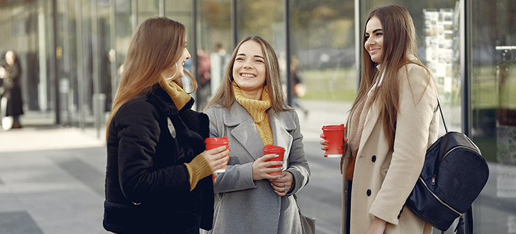
M 294 120 L 295 128 L 290 132 L 292 135 L 292 147 L 288 157 L 288 169 L 294 175 L 296 182 L 293 189 L 287 195 L 299 192 L 310 180 L 310 167 L 308 160 L 306 160 L 305 149 L 303 147 L 303 135 L 301 134 L 301 127 L 299 125 L 299 117 L 296 111 L 288 111 L 290 117 Z

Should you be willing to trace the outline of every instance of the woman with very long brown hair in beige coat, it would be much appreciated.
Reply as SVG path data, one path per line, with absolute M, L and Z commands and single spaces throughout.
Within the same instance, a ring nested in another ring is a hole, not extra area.
M 366 22 L 363 76 L 341 160 L 342 233 L 431 233 L 430 224 L 403 208 L 438 137 L 436 85 L 417 58 L 407 10 L 378 8 Z

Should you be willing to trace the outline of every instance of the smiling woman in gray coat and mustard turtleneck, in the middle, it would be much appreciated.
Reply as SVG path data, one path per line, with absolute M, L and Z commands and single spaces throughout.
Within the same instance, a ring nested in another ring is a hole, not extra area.
M 237 45 L 205 113 L 210 136 L 228 136 L 231 150 L 214 184 L 209 233 L 301 233 L 292 195 L 308 183 L 310 169 L 299 119 L 284 105 L 277 56 L 267 41 L 249 36 Z M 264 156 L 265 145 L 285 148 L 283 162 L 266 162 L 275 155 Z M 281 175 L 268 174 L 274 171 Z

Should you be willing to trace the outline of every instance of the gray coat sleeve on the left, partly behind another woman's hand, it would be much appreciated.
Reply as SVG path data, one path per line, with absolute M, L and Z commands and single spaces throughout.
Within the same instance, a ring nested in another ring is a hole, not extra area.
M 206 110 L 210 118 L 210 137 L 226 136 L 226 126 L 222 120 L 222 107 L 211 107 Z M 233 153 L 237 153 L 233 151 Z M 231 153 L 230 153 L 231 154 Z M 231 161 L 230 157 L 230 161 Z M 255 189 L 257 184 L 252 180 L 252 162 L 244 164 L 228 164 L 226 172 L 217 176 L 217 182 L 213 184 L 215 193 L 226 193 L 244 189 Z

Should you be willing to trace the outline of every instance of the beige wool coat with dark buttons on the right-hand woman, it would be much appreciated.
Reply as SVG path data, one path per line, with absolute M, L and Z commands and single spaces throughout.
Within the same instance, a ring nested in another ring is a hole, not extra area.
M 389 150 L 376 101 L 365 120 L 351 189 L 350 233 L 353 234 L 365 233 L 374 216 L 387 221 L 387 234 L 432 232 L 430 224 L 403 208 L 418 180 L 425 153 L 438 138 L 437 89 L 419 65 L 405 65 L 398 75 L 400 99 L 394 150 Z M 345 171 L 350 155 L 347 147 L 341 172 Z M 342 233 L 346 232 L 346 211 L 350 205 L 347 188 L 343 173 Z

